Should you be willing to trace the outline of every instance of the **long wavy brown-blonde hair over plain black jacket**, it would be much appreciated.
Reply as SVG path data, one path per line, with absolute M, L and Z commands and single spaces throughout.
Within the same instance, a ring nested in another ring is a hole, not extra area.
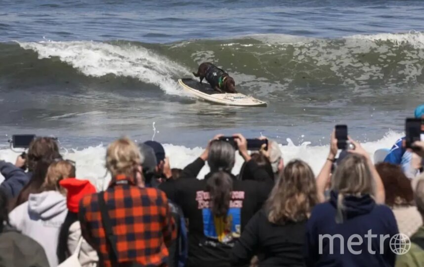
M 301 160 L 292 160 L 281 172 L 266 201 L 270 223 L 307 220 L 318 203 L 315 176 L 311 167 Z

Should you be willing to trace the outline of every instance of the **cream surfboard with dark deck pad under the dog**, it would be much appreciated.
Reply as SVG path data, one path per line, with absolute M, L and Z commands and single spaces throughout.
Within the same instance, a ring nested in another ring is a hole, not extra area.
M 178 83 L 194 96 L 212 103 L 231 106 L 257 107 L 267 103 L 242 93 L 219 93 L 211 88 L 207 82 L 202 84 L 193 79 L 179 79 Z

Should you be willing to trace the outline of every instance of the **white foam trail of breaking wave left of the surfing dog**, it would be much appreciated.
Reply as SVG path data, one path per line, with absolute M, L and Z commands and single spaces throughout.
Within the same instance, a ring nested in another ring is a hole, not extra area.
M 181 91 L 174 77 L 189 74 L 188 70 L 179 64 L 142 46 L 93 41 L 18 44 L 24 49 L 37 51 L 39 58 L 58 57 L 86 76 L 114 74 L 132 77 L 154 84 L 169 94 L 179 94 Z

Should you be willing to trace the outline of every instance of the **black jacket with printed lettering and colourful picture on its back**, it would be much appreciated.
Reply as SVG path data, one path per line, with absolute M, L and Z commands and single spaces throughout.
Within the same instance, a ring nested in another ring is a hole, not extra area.
M 185 176 L 177 179 L 174 186 L 160 188 L 181 207 L 187 220 L 189 252 L 186 266 L 229 267 L 234 242 L 268 198 L 272 184 L 241 181 L 232 176 L 233 191 L 228 217 L 231 220 L 228 223 L 214 221 L 209 209 L 209 193 L 206 192 L 206 182 L 212 174 L 206 175 L 203 180 L 195 178 L 204 164 L 203 160 L 196 159 L 184 169 Z M 257 168 L 255 173 L 257 176 L 267 175 L 262 171 Z M 187 178 L 187 175 L 191 178 Z

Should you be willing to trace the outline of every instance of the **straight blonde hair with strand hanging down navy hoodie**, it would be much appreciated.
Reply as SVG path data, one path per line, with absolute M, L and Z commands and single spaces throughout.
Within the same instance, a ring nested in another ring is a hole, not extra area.
M 343 200 L 346 195 L 374 195 L 374 183 L 367 159 L 349 154 L 337 166 L 332 176 L 332 189 L 338 193 L 336 222 L 343 222 Z

